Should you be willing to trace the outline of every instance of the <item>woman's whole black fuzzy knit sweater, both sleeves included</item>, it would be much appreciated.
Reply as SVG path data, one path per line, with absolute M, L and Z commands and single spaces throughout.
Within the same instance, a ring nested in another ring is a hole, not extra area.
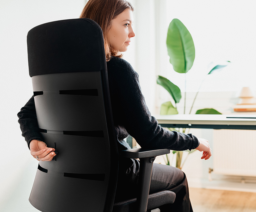
M 130 148 L 123 141 L 129 134 L 144 148 L 191 150 L 199 145 L 198 139 L 192 134 L 166 131 L 158 125 L 141 93 L 138 74 L 127 61 L 112 57 L 107 62 L 107 70 L 119 150 Z M 33 96 L 18 113 L 18 117 L 28 145 L 33 139 L 42 140 Z

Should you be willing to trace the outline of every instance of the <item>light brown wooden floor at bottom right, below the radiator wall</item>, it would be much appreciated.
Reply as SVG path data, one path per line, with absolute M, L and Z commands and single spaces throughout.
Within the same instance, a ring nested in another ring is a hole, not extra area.
M 256 193 L 190 188 L 194 212 L 256 212 Z

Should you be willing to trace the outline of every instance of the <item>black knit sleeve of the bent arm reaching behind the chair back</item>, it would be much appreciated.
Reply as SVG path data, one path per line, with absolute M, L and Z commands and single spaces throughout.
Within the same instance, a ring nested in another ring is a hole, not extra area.
M 33 139 L 43 141 L 37 123 L 34 96 L 32 96 L 26 105 L 21 108 L 21 111 L 18 113 L 18 117 L 22 136 L 27 141 L 28 146 L 30 141 Z

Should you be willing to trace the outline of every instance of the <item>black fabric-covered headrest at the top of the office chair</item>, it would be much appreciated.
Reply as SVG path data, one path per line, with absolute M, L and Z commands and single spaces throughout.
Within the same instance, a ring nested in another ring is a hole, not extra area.
M 106 67 L 100 26 L 90 19 L 42 24 L 27 35 L 29 75 L 100 71 Z

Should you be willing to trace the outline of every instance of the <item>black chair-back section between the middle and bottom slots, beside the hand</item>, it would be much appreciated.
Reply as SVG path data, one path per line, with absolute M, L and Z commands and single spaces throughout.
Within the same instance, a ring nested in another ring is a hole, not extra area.
M 80 174 L 102 174 L 102 170 L 107 169 L 107 151 L 99 148 L 104 145 L 104 138 L 64 135 L 54 133 L 42 133 L 48 146 L 52 146 L 59 152 L 54 158 L 54 163 L 40 162 L 39 164 L 47 170 L 61 173 L 80 173 Z M 106 147 L 105 147 L 106 148 Z M 80 154 L 79 149 L 82 149 Z M 93 149 L 97 149 L 95 154 Z M 71 161 L 70 161 L 70 158 Z M 86 161 L 84 165 L 81 161 Z M 74 164 L 79 164 L 75 166 Z M 95 166 L 95 164 L 97 164 Z M 84 165 L 84 166 L 80 166 Z

